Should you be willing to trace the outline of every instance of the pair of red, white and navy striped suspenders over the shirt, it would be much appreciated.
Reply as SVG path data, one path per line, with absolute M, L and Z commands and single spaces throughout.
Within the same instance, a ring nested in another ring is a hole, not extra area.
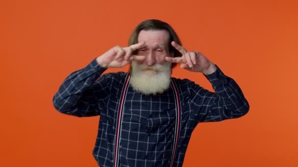
M 118 108 L 118 116 L 117 116 L 117 127 L 116 127 L 116 139 L 115 139 L 115 150 L 114 150 L 114 167 L 119 166 L 119 149 L 120 149 L 120 139 L 121 139 L 121 124 L 122 124 L 122 117 L 124 112 L 124 102 L 126 98 L 126 93 L 129 84 L 129 74 L 127 74 L 125 83 L 122 90 L 121 100 Z M 175 98 L 175 107 L 176 107 L 176 120 L 175 120 L 175 133 L 174 133 L 174 145 L 172 151 L 172 160 L 171 160 L 171 167 L 174 165 L 174 159 L 177 152 L 178 140 L 179 140 L 179 133 L 180 133 L 180 122 L 181 122 L 181 109 L 180 109 L 180 100 L 179 100 L 179 93 L 177 90 L 176 83 L 172 79 L 171 82 L 172 89 L 174 91 L 174 98 Z

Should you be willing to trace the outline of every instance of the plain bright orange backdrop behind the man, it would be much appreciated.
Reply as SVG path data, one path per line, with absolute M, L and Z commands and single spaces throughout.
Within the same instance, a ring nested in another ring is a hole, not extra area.
M 170 23 L 241 86 L 248 115 L 202 123 L 184 167 L 298 167 L 298 12 L 292 0 L 1 0 L 1 167 L 97 167 L 99 117 L 57 112 L 63 80 L 146 19 Z M 109 69 L 111 71 L 127 70 Z M 174 69 L 174 77 L 211 85 Z

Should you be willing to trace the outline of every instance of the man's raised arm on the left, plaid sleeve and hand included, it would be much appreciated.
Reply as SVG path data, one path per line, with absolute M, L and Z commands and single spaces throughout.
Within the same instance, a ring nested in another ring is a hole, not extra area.
M 54 107 L 62 113 L 78 117 L 99 115 L 99 108 L 102 107 L 99 105 L 104 105 L 111 93 L 110 78 L 99 76 L 108 67 L 119 68 L 132 60 L 143 61 L 145 56 L 132 55 L 143 45 L 115 46 L 85 68 L 70 74 L 53 97 Z

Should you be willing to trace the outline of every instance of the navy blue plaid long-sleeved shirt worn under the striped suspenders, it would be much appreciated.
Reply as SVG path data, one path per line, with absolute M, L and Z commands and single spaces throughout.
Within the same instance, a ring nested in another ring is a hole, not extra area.
M 175 145 L 177 106 L 173 86 L 163 94 L 143 95 L 128 82 L 120 118 L 128 75 L 118 72 L 100 76 L 104 71 L 96 60 L 92 61 L 70 74 L 53 97 L 55 108 L 62 113 L 78 117 L 100 115 L 93 150 L 100 167 L 170 167 L 172 157 L 172 166 L 181 167 L 191 133 L 199 122 L 238 118 L 249 109 L 239 86 L 219 68 L 206 75 L 216 93 L 187 79 L 172 78 L 181 108 Z

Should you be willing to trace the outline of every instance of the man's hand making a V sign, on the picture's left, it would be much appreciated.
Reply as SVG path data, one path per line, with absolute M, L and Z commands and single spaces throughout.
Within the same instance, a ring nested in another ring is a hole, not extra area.
M 132 44 L 128 47 L 115 46 L 99 56 L 96 61 L 97 63 L 105 68 L 120 68 L 134 61 L 144 61 L 145 56 L 137 56 L 132 53 L 137 49 L 142 48 L 145 45 L 144 42 Z

